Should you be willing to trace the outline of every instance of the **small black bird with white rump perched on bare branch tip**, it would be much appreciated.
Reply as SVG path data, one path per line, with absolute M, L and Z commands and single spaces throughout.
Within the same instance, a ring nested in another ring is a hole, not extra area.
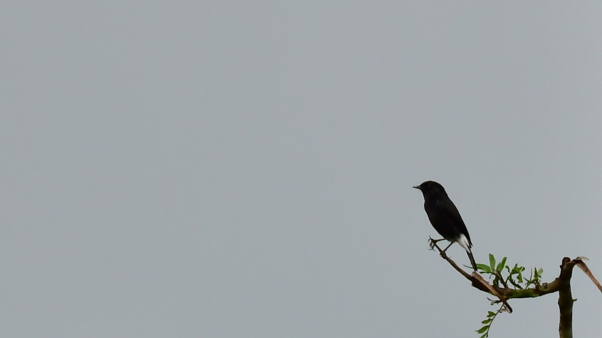
M 426 210 L 430 224 L 437 230 L 439 235 L 443 236 L 442 239 L 433 240 L 432 245 L 438 241 L 447 239 L 451 243 L 443 250 L 443 253 L 445 253 L 445 250 L 452 246 L 454 242 L 458 242 L 468 253 L 468 258 L 473 265 L 474 271 L 477 271 L 477 264 L 474 262 L 473 253 L 470 250 L 473 247 L 473 242 L 470 241 L 470 235 L 468 235 L 468 230 L 464 221 L 462 221 L 460 212 L 458 212 L 452 200 L 447 196 L 447 192 L 445 192 L 443 186 L 437 182 L 426 181 L 421 185 L 414 186 L 414 188 L 422 191 L 424 210 Z

